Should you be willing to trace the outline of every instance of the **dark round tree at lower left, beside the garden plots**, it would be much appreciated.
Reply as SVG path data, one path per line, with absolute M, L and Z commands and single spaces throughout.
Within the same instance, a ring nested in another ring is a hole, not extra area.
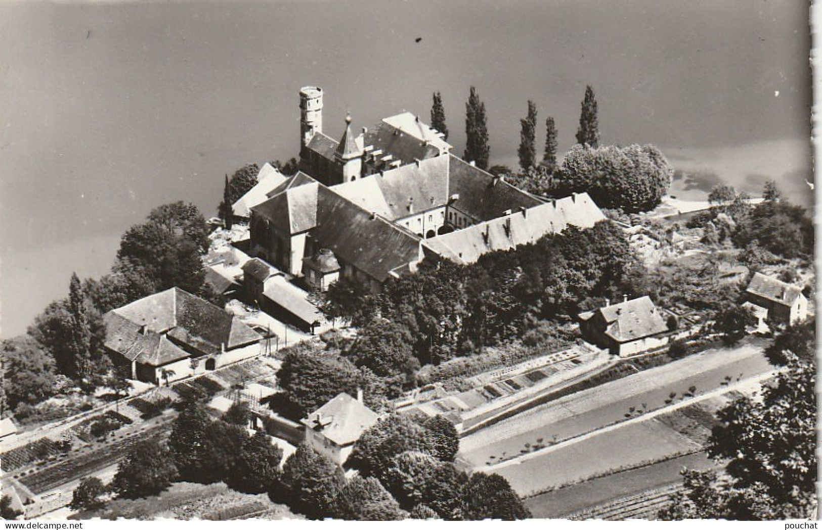
M 173 455 L 154 439 L 139 441 L 117 469 L 112 490 L 125 499 L 157 495 L 177 477 Z

